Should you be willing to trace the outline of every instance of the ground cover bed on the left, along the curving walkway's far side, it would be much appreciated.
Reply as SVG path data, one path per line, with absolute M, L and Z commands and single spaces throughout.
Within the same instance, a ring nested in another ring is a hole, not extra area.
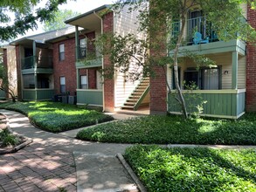
M 113 120 L 104 113 L 58 102 L 8 102 L 0 108 L 24 113 L 36 126 L 52 133 Z

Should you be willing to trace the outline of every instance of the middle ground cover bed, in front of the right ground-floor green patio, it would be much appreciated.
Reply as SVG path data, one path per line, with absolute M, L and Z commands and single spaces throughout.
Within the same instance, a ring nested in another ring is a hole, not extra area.
M 256 114 L 239 120 L 184 120 L 181 116 L 144 116 L 85 128 L 86 141 L 144 144 L 256 145 Z

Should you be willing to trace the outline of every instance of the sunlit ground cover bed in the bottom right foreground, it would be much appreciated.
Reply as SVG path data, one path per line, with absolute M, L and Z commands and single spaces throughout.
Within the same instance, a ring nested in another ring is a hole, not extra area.
M 129 147 L 124 155 L 149 191 L 256 191 L 256 151 Z

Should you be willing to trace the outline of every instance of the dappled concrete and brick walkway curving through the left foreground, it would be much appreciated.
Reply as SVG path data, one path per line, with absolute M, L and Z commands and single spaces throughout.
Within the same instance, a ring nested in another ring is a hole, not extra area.
M 60 189 L 75 191 L 74 186 L 77 187 L 77 191 L 88 192 L 136 191 L 135 183 L 115 157 L 118 153 L 122 154 L 130 145 L 79 141 L 61 134 L 42 131 L 32 126 L 23 114 L 7 110 L 0 110 L 0 113 L 8 117 L 10 128 L 14 132 L 33 140 L 29 147 L 25 147 L 16 154 L 6 154 L 3 158 L 1 156 L 0 164 L 4 165 L 4 168 L 0 166 L 0 175 L 4 175 L 5 180 L 0 176 L 0 192 L 10 191 L 10 189 L 11 191 L 59 191 Z M 27 159 L 27 156 L 31 158 Z M 47 156 L 46 159 L 45 156 Z M 14 168 L 13 165 L 18 166 Z M 44 168 L 38 168 L 39 165 L 44 165 Z M 76 181 L 74 176 L 67 177 L 75 174 L 73 173 L 74 165 Z M 29 169 L 28 173 L 34 174 L 19 175 L 24 168 Z M 42 175 L 40 172 L 42 169 L 44 169 L 43 172 L 45 171 L 45 177 L 38 179 Z M 61 174 L 66 175 L 66 178 L 59 176 Z M 11 175 L 19 175 L 18 178 L 20 180 L 24 178 L 25 182 L 17 182 Z M 47 176 L 50 178 L 47 179 Z M 15 183 L 15 185 L 11 187 L 4 181 Z M 29 182 L 32 186 L 25 188 Z

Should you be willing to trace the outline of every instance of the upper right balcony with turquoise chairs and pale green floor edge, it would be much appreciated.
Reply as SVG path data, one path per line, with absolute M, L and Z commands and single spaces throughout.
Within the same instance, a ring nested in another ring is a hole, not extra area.
M 181 23 L 175 22 L 172 24 L 170 34 L 173 43 L 176 42 Z M 216 28 L 215 28 L 216 29 Z M 207 21 L 206 17 L 196 17 L 188 19 L 185 25 L 183 34 L 183 42 L 179 49 L 179 57 L 186 55 L 187 51 L 197 54 L 214 54 L 229 51 L 239 51 L 240 55 L 246 54 L 246 43 L 233 39 L 230 41 L 222 41 L 218 38 L 216 30 L 211 22 Z M 170 51 L 172 56 L 174 51 Z

